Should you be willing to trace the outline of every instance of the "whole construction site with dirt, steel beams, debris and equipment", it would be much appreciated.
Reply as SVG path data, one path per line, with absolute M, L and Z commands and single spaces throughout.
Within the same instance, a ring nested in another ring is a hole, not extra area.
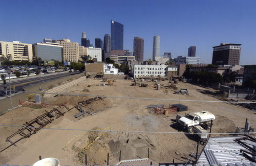
M 49 87 L 26 93 L 27 101 L 0 116 L 1 164 L 32 165 L 49 157 L 60 165 L 129 165 L 120 161 L 145 158 L 144 165 L 195 164 L 206 141 L 198 146 L 194 134 L 180 129 L 178 114 L 214 114 L 206 130 L 212 138 L 237 136 L 246 122 L 252 132 L 256 126 L 256 112 L 239 103 L 255 101 L 228 100 L 225 92 L 182 79 L 83 76 Z

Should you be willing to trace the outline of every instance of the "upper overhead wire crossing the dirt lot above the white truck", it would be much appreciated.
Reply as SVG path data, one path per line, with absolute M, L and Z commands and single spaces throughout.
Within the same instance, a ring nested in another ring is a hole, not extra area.
M 5 90 L 0 90 L 5 91 Z M 162 100 L 162 101 L 183 101 L 183 102 L 211 102 L 211 103 L 249 103 L 256 104 L 256 102 L 231 102 L 231 101 L 207 101 L 207 100 L 180 100 L 180 99 L 158 99 L 158 98 L 136 98 L 136 97 L 118 97 L 118 96 L 104 96 L 104 95 L 90 95 L 90 94 L 69 94 L 69 93 L 49 93 L 38 91 L 17 91 L 26 93 L 40 93 L 40 94 L 54 94 L 61 96 L 80 96 L 80 97 L 104 97 L 104 98 L 117 98 L 117 99 L 140 99 L 140 100 Z

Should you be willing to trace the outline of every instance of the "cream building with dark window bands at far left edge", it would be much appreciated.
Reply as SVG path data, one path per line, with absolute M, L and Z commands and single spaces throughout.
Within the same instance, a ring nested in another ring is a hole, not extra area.
M 11 55 L 11 60 L 32 61 L 32 44 L 25 44 L 19 41 L 7 42 L 0 41 L 0 55 Z

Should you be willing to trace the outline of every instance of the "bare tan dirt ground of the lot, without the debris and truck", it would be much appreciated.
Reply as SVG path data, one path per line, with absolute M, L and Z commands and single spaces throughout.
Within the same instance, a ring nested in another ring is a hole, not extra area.
M 212 90 L 201 86 L 179 82 L 178 89 L 186 88 L 189 96 L 174 94 L 174 90 L 156 90 L 154 82 L 147 87 L 131 86 L 132 80 L 116 80 L 113 86 L 101 86 L 102 80 L 86 79 L 71 87 L 65 86 L 59 93 L 91 94 L 108 97 L 136 97 L 154 99 L 176 100 L 203 100 L 219 101 L 211 94 L 202 91 Z M 167 85 L 168 81 L 160 84 Z M 88 86 L 89 85 L 89 86 Z M 87 88 L 84 91 L 84 88 Z M 44 103 L 59 104 L 69 101 L 71 108 L 77 102 L 92 97 L 58 96 L 42 100 Z M 188 111 L 163 115 L 155 114 L 147 105 L 156 104 L 183 104 L 188 106 Z M 42 111 L 50 111 L 56 106 L 48 108 L 20 107 L 0 116 L 2 125 L 22 126 L 42 114 Z M 54 157 L 60 161 L 60 165 L 85 164 L 85 155 L 88 156 L 88 164 L 97 163 L 106 165 L 107 155 L 110 154 L 110 165 L 115 165 L 121 159 L 147 158 L 148 149 L 150 158 L 159 163 L 186 162 L 192 152 L 195 152 L 197 142 L 192 135 L 185 135 L 178 130 L 174 119 L 178 113 L 183 116 L 188 112 L 208 110 L 216 115 L 212 132 L 235 132 L 236 127 L 244 127 L 245 120 L 255 128 L 256 114 L 247 111 L 246 108 L 229 103 L 215 102 L 188 102 L 188 101 L 163 101 L 146 99 L 105 98 L 95 101 L 84 107 L 84 110 L 99 110 L 94 115 L 77 120 L 74 115 L 79 113 L 72 109 L 64 116 L 59 117 L 47 128 L 71 129 L 50 130 L 41 129 L 31 137 L 19 141 L 15 146 L 0 153 L 0 164 L 32 165 L 39 157 Z M 76 130 L 72 130 L 76 129 Z M 81 130 L 80 130 L 81 129 Z M 94 129 L 99 131 L 84 131 Z M 16 132 L 16 127 L 0 127 L 0 150 L 10 145 L 6 137 Z M 101 130 L 118 130 L 120 132 L 104 132 Z M 125 131 L 155 131 L 178 132 L 169 133 L 143 133 Z M 212 135 L 220 136 L 220 135 Z

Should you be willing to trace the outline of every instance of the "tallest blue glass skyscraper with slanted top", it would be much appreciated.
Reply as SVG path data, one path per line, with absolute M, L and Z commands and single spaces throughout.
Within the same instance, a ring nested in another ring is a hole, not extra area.
M 111 49 L 123 50 L 123 25 L 111 20 Z

